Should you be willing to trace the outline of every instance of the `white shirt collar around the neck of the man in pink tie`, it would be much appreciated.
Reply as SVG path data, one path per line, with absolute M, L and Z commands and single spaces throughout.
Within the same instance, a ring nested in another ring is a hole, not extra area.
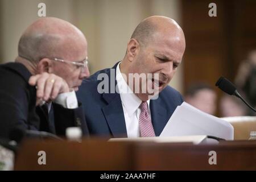
M 116 69 L 116 80 L 117 80 L 118 92 L 120 94 L 122 104 L 123 106 L 125 106 L 125 109 L 130 116 L 138 109 L 142 101 L 133 93 L 133 91 L 127 85 L 126 80 L 123 78 L 119 68 L 121 63 L 122 62 L 118 63 L 117 69 Z M 149 104 L 150 104 L 150 100 L 147 100 L 147 105 Z

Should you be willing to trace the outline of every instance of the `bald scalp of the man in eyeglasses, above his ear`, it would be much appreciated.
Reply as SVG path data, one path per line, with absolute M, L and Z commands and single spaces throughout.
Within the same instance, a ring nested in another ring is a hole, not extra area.
M 71 59 L 81 51 L 86 54 L 86 48 L 85 36 L 77 27 L 65 20 L 47 17 L 36 20 L 24 31 L 18 54 L 38 63 L 44 57 Z

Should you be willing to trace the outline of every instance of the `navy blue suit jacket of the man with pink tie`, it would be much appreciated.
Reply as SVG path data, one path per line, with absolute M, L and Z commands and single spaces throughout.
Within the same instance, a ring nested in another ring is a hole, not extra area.
M 84 106 L 84 113 L 90 135 L 101 135 L 105 137 L 127 137 L 125 117 L 123 114 L 122 102 L 118 93 L 98 93 L 97 87 L 102 80 L 97 80 L 100 73 L 106 73 L 110 80 L 115 80 L 114 65 L 110 78 L 110 69 L 103 69 L 86 78 L 77 92 L 77 98 Z M 110 91 L 110 86 L 109 86 Z M 181 105 L 183 98 L 175 89 L 167 86 L 159 94 L 159 98 L 150 101 L 152 125 L 156 136 L 159 136 L 164 126 L 170 119 L 178 105 Z

